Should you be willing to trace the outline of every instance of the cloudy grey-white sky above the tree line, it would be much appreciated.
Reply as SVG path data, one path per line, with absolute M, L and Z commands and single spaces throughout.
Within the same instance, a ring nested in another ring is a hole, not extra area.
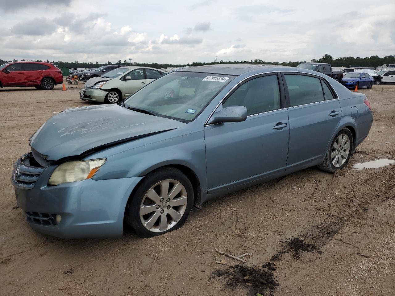
M 186 64 L 395 54 L 395 1 L 2 0 L 0 58 Z

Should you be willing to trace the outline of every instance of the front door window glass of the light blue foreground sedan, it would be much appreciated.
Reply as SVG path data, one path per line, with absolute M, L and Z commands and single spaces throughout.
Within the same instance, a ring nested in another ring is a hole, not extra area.
M 247 115 L 280 109 L 277 75 L 258 77 L 245 82 L 226 99 L 222 107 L 244 106 Z

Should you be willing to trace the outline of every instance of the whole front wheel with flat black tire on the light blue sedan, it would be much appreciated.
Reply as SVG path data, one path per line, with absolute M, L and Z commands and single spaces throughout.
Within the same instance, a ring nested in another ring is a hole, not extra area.
M 179 229 L 194 200 L 190 180 L 178 169 L 167 168 L 147 175 L 126 207 L 126 222 L 148 238 Z

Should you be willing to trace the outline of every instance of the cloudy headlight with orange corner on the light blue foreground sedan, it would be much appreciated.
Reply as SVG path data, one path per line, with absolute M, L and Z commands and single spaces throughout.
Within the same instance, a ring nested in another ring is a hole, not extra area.
M 59 165 L 49 178 L 49 185 L 81 181 L 90 179 L 96 174 L 106 159 L 94 159 L 84 161 L 68 161 Z

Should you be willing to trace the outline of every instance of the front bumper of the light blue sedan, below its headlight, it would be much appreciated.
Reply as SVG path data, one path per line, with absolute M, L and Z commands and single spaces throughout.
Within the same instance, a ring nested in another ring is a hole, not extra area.
M 32 189 L 14 186 L 17 204 L 32 229 L 60 238 L 122 236 L 126 203 L 142 177 L 48 186 L 53 169 L 47 167 Z M 61 217 L 59 223 L 56 215 Z

